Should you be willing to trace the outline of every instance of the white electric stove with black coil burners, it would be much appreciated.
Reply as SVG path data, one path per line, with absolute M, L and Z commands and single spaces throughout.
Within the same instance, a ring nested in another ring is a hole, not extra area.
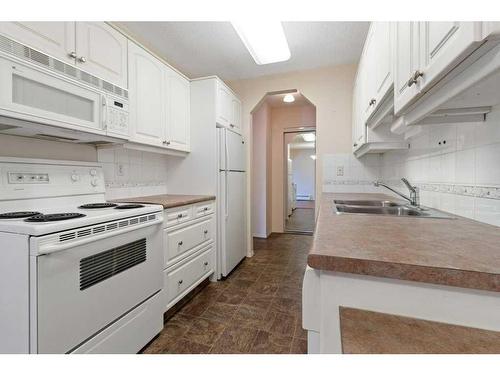
M 135 353 L 163 326 L 163 207 L 98 163 L 0 158 L 0 353 Z

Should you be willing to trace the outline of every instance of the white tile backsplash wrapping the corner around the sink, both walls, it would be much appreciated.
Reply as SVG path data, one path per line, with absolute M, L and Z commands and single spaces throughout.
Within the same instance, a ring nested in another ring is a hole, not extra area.
M 336 167 L 344 165 L 344 176 Z M 500 226 L 500 107 L 478 123 L 424 126 L 409 150 L 366 155 L 323 156 L 323 191 L 384 192 L 382 179 L 405 191 L 406 177 L 420 187 L 421 203 Z

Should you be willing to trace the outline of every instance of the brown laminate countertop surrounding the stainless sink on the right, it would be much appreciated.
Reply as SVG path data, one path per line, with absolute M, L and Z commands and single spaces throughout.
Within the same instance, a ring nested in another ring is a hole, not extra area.
M 338 215 L 334 199 L 395 200 L 324 193 L 309 266 L 500 292 L 500 228 L 462 217 Z

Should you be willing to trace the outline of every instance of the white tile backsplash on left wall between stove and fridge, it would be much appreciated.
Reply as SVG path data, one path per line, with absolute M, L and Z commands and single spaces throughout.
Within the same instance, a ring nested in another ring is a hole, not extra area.
M 97 150 L 103 165 L 106 199 L 167 193 L 167 157 L 127 149 Z

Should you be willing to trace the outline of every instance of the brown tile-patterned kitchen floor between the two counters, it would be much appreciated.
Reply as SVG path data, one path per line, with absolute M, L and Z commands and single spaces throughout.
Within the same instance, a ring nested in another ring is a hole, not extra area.
M 224 281 L 209 283 L 143 353 L 306 353 L 301 287 L 311 236 L 256 239 Z

